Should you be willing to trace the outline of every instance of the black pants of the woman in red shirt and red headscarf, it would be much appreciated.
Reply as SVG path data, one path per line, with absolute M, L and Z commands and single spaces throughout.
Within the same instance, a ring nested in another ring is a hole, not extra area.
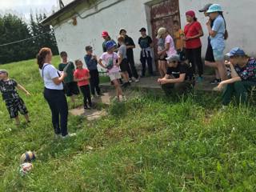
M 192 64 L 193 73 L 196 74 L 196 66 L 198 67 L 198 74 L 201 77 L 203 74 L 202 58 L 201 58 L 202 47 L 196 49 L 186 49 L 186 58 Z

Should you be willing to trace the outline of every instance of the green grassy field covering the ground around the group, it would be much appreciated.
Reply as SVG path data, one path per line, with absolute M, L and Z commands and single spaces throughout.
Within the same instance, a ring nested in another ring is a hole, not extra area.
M 77 137 L 56 140 L 35 61 L 0 68 L 32 93 L 20 94 L 30 126 L 14 126 L 0 102 L 0 191 L 256 190 L 254 106 L 220 112 L 216 95 L 196 93 L 178 102 L 141 94 L 113 103 L 97 122 L 70 116 Z M 26 150 L 38 158 L 22 177 L 19 158 Z

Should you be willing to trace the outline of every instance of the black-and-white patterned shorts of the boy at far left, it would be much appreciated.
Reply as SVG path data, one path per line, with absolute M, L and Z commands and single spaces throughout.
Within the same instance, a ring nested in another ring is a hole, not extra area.
M 15 98 L 6 101 L 6 108 L 10 114 L 10 118 L 18 117 L 18 111 L 21 114 L 28 114 L 29 112 L 26 109 L 25 103 L 22 98 Z

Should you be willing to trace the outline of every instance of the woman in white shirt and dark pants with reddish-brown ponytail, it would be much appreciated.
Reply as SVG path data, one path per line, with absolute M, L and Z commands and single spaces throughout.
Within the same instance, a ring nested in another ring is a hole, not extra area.
M 54 133 L 66 138 L 71 136 L 67 132 L 68 106 L 62 84 L 66 74 L 51 65 L 51 58 L 51 50 L 47 47 L 42 48 L 37 55 L 39 71 L 45 86 L 43 94 L 50 106 Z

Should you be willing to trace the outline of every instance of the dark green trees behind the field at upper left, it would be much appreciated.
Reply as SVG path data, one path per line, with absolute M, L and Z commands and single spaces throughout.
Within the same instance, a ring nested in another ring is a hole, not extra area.
M 46 14 L 30 14 L 28 24 L 12 14 L 0 15 L 0 64 L 34 58 L 43 46 L 58 54 L 54 30 L 40 23 L 44 18 Z M 18 42 L 23 39 L 27 40 Z M 16 43 L 4 45 L 10 42 Z

